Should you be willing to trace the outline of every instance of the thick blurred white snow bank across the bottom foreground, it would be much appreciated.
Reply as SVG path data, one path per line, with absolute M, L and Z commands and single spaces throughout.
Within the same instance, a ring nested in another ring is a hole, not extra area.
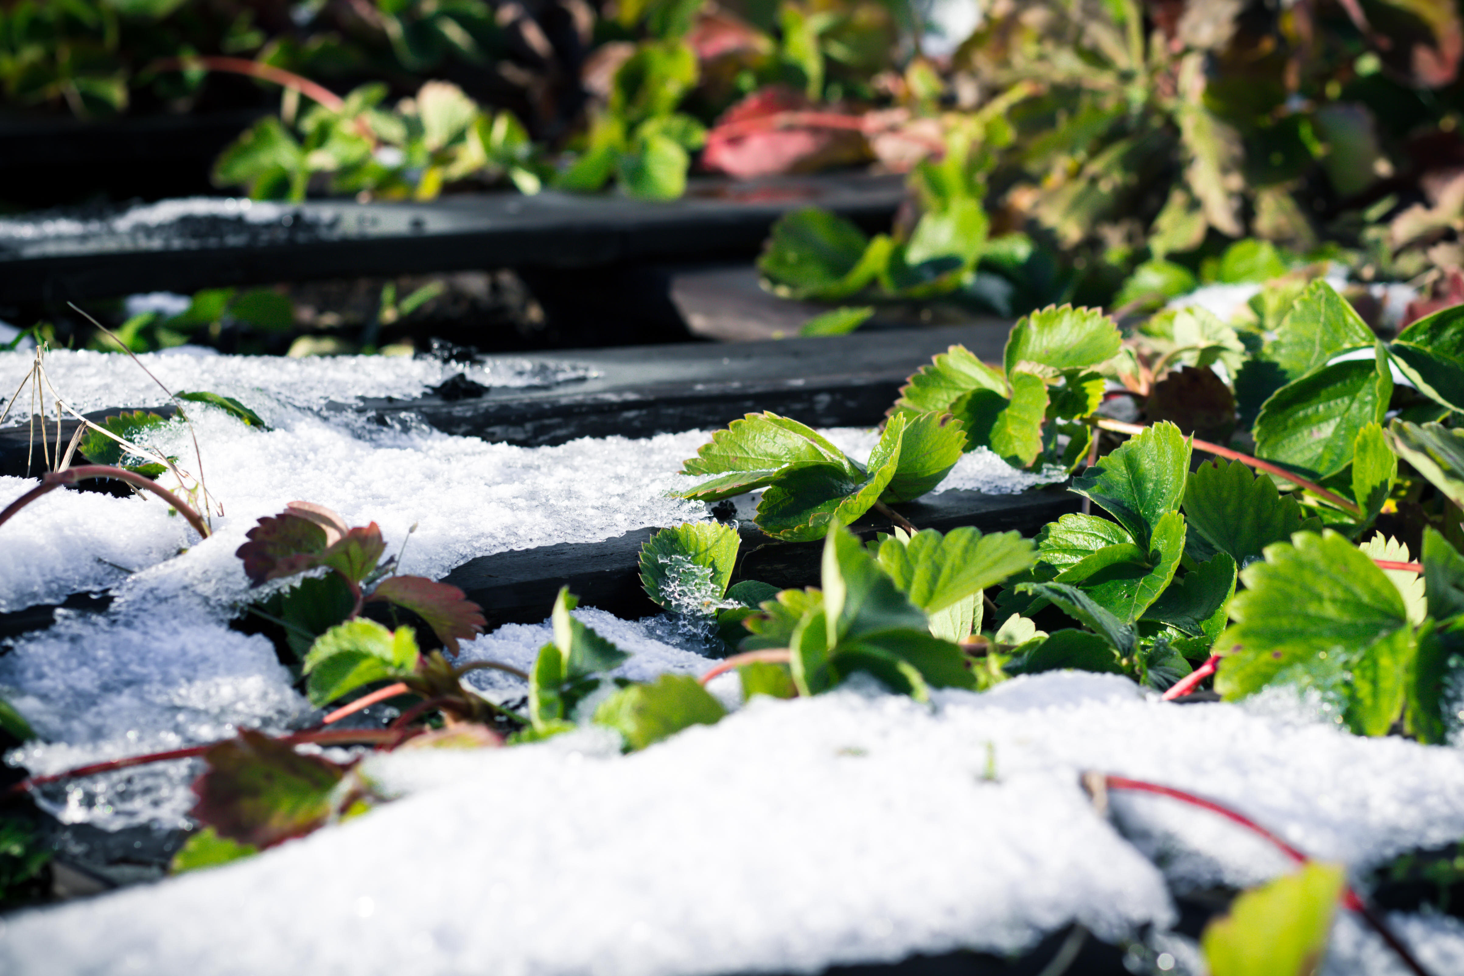
M 236 865 L 13 916 L 0 969 L 813 973 L 1020 951 L 1072 920 L 1116 941 L 1174 922 L 1164 872 L 1183 887 L 1285 869 L 1214 817 L 1111 793 L 1126 833 L 1167 836 L 1161 872 L 1092 809 L 1083 770 L 1195 790 L 1353 868 L 1464 833 L 1452 749 L 1167 704 L 1099 675 L 931 707 L 846 691 L 754 699 L 630 757 L 593 729 L 376 755 L 360 773 L 395 802 Z M 1192 874 L 1186 850 L 1217 874 Z M 1426 957 L 1464 945 L 1454 922 L 1397 923 Z M 1388 972 L 1348 925 L 1328 972 Z

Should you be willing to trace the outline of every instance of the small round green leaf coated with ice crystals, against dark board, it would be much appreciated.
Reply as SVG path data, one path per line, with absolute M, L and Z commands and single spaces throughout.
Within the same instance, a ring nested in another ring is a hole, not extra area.
M 726 594 L 739 546 L 736 530 L 722 522 L 663 528 L 641 546 L 641 587 L 662 607 L 710 616 Z

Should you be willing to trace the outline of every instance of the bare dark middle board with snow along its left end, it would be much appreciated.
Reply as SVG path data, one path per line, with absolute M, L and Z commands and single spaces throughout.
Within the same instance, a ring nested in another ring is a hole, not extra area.
M 716 429 L 763 410 L 815 427 L 873 426 L 905 379 L 950 345 L 1000 361 L 1009 326 L 991 319 L 837 338 L 569 350 L 549 359 L 602 376 L 542 389 L 496 388 L 468 399 L 369 399 L 359 408 L 382 423 L 413 413 L 445 433 L 524 446 Z

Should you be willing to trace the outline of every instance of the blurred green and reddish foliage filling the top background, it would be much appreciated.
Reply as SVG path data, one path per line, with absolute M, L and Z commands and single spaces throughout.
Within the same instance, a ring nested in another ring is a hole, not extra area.
M 1461 57 L 1449 0 L 0 1 L 4 117 L 268 110 L 223 190 L 905 173 L 884 234 L 786 218 L 764 285 L 1001 315 L 1325 268 L 1464 299 Z

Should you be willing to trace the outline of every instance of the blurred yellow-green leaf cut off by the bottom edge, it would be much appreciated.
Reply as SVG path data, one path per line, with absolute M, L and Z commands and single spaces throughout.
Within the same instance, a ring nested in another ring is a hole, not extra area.
M 1200 936 L 1211 976 L 1313 976 L 1344 884 L 1340 865 L 1310 860 L 1241 894 Z

